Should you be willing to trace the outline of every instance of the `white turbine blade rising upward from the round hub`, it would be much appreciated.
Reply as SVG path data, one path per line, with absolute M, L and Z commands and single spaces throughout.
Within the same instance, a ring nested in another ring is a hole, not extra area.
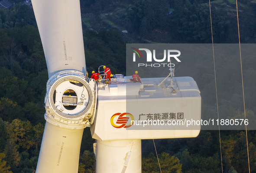
M 79 0 L 32 0 L 49 78 L 63 69 L 86 72 Z

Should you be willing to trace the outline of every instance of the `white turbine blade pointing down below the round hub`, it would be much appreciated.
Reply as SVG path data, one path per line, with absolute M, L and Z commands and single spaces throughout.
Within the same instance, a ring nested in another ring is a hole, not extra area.
M 46 122 L 36 173 L 78 173 L 83 131 Z

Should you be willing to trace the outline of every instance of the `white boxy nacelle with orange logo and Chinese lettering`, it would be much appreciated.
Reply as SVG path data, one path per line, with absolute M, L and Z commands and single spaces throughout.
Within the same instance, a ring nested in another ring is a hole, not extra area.
M 142 84 L 128 83 L 126 78 L 98 85 L 93 138 L 110 141 L 198 136 L 201 96 L 193 78 L 174 77 L 164 82 L 164 78 L 148 78 L 141 79 Z

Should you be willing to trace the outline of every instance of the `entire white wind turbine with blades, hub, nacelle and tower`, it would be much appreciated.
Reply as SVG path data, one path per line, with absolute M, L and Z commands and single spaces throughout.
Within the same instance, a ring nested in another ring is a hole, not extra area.
M 32 5 L 49 74 L 36 173 L 78 173 L 85 127 L 97 139 L 97 173 L 141 173 L 141 139 L 199 134 L 198 126 L 143 127 L 164 115 L 201 120 L 200 91 L 191 77 L 146 78 L 140 84 L 115 75 L 117 83 L 110 85 L 88 80 L 79 0 L 32 0 Z

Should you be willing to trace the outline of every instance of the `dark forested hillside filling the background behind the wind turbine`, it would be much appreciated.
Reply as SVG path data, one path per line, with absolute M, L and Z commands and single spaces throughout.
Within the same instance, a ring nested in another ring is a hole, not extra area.
M 0 173 L 35 173 L 44 120 L 48 80 L 44 52 L 32 6 L 23 0 L 0 8 Z M 238 0 L 241 43 L 256 42 L 256 2 Z M 107 65 L 126 72 L 126 43 L 209 43 L 208 0 L 81 0 L 87 71 Z M 214 43 L 238 43 L 235 0 L 211 1 Z M 126 30 L 127 32 L 122 32 Z M 176 76 L 191 76 L 202 96 L 202 114 L 216 119 L 212 52 L 209 59 L 188 60 Z M 242 57 L 243 58 L 243 57 Z M 240 60 L 216 59 L 219 113 L 243 117 Z M 191 65 L 189 65 L 191 64 Z M 243 59 L 246 115 L 256 111 L 256 60 Z M 230 77 L 231 76 L 231 77 Z M 231 94 L 227 94 L 230 93 Z M 155 140 L 163 173 L 248 172 L 246 132 L 202 130 L 197 138 Z M 248 131 L 250 172 L 256 173 L 256 132 Z M 90 129 L 84 130 L 79 173 L 95 172 Z M 152 140 L 143 140 L 143 173 L 159 164 Z

